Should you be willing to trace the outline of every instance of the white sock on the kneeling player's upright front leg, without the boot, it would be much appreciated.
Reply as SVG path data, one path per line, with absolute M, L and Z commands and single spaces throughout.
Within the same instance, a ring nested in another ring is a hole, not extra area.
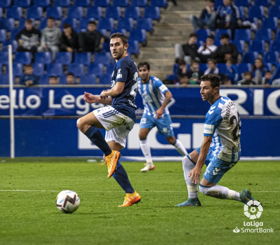
M 195 164 L 189 159 L 188 156 L 184 156 L 182 160 L 184 177 L 188 188 L 188 197 L 197 198 L 197 184 L 192 183 L 189 178 L 189 172 L 194 168 Z

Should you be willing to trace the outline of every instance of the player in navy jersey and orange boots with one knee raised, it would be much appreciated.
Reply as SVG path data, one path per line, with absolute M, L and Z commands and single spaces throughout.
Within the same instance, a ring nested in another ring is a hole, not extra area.
M 103 90 L 100 96 L 85 92 L 87 103 L 102 103 L 110 106 L 101 107 L 77 120 L 77 127 L 97 147 L 104 152 L 108 167 L 108 178 L 112 175 L 124 189 L 124 203 L 131 206 L 141 200 L 140 195 L 131 186 L 124 167 L 119 162 L 120 150 L 125 147 L 126 138 L 135 123 L 134 104 L 138 70 L 128 56 L 128 39 L 124 34 L 114 33 L 110 37 L 110 51 L 116 60 L 112 74 L 111 88 Z M 105 139 L 99 129 L 106 129 Z

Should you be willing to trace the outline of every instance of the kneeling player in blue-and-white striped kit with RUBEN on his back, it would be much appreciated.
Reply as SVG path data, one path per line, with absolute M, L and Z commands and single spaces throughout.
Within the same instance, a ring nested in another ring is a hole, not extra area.
M 207 74 L 201 77 L 200 93 L 203 101 L 208 101 L 211 107 L 206 113 L 201 147 L 183 158 L 184 177 L 189 196 L 187 201 L 176 206 L 201 206 L 197 195 L 197 184 L 204 163 L 207 168 L 199 183 L 201 193 L 243 203 L 255 200 L 247 189 L 238 193 L 217 185 L 222 176 L 236 165 L 241 151 L 241 122 L 237 108 L 230 98 L 220 96 L 219 88 L 220 78 L 217 75 Z

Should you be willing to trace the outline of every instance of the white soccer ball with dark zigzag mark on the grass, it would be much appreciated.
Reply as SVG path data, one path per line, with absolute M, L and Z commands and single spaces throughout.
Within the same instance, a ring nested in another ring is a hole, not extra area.
M 64 190 L 56 197 L 56 206 L 63 213 L 73 213 L 80 205 L 80 197 L 71 190 Z

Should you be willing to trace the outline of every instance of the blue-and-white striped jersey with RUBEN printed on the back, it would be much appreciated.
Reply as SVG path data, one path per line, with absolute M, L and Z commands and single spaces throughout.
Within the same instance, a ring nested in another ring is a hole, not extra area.
M 235 104 L 221 96 L 206 113 L 204 136 L 212 136 L 212 153 L 219 159 L 235 162 L 240 159 L 241 122 Z

